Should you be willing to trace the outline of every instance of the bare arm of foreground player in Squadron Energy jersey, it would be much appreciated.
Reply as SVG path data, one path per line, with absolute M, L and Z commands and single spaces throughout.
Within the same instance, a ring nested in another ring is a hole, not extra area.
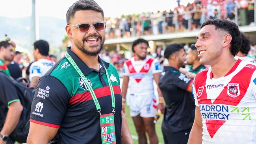
M 202 128 L 192 126 L 187 144 L 202 144 Z

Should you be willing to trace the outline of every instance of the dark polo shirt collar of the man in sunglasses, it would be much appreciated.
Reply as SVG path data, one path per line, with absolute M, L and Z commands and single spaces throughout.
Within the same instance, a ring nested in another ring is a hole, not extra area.
M 89 66 L 87 66 L 82 59 L 80 59 L 76 54 L 74 54 L 71 50 L 71 47 L 67 47 L 67 52 L 69 53 L 69 55 L 72 57 L 72 59 L 74 60 L 74 62 L 76 63 L 76 65 L 78 65 L 78 67 L 80 68 L 80 70 L 83 72 L 84 75 L 87 75 L 91 72 L 93 72 L 93 70 L 91 68 L 89 68 Z M 100 63 L 100 65 L 104 65 L 106 67 L 106 69 L 108 69 L 109 63 L 106 63 L 105 61 L 102 61 L 102 59 L 100 58 L 100 56 L 98 55 L 98 62 Z M 106 70 L 104 68 L 102 68 L 104 73 L 106 72 Z

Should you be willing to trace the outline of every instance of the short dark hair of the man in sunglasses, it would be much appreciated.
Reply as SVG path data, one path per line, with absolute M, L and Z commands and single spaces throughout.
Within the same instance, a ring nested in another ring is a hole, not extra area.
M 69 24 L 70 19 L 74 17 L 76 11 L 80 11 L 80 10 L 98 11 L 99 13 L 101 13 L 102 17 L 104 18 L 104 12 L 102 8 L 94 0 L 78 0 L 72 6 L 70 6 L 67 11 L 67 14 L 66 14 L 67 24 Z

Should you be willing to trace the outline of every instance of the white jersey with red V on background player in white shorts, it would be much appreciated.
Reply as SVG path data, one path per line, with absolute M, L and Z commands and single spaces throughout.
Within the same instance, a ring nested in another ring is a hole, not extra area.
M 154 94 L 153 74 L 162 72 L 160 63 L 147 56 L 143 61 L 135 61 L 135 57 L 125 61 L 123 75 L 129 76 L 132 94 Z

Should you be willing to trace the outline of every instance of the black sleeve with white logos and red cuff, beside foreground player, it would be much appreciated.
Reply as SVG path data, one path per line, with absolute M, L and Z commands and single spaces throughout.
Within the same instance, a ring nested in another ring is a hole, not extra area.
M 173 78 L 174 85 L 183 90 L 187 90 L 192 82 L 193 81 L 190 78 L 187 78 L 186 75 L 182 73 L 176 74 Z

